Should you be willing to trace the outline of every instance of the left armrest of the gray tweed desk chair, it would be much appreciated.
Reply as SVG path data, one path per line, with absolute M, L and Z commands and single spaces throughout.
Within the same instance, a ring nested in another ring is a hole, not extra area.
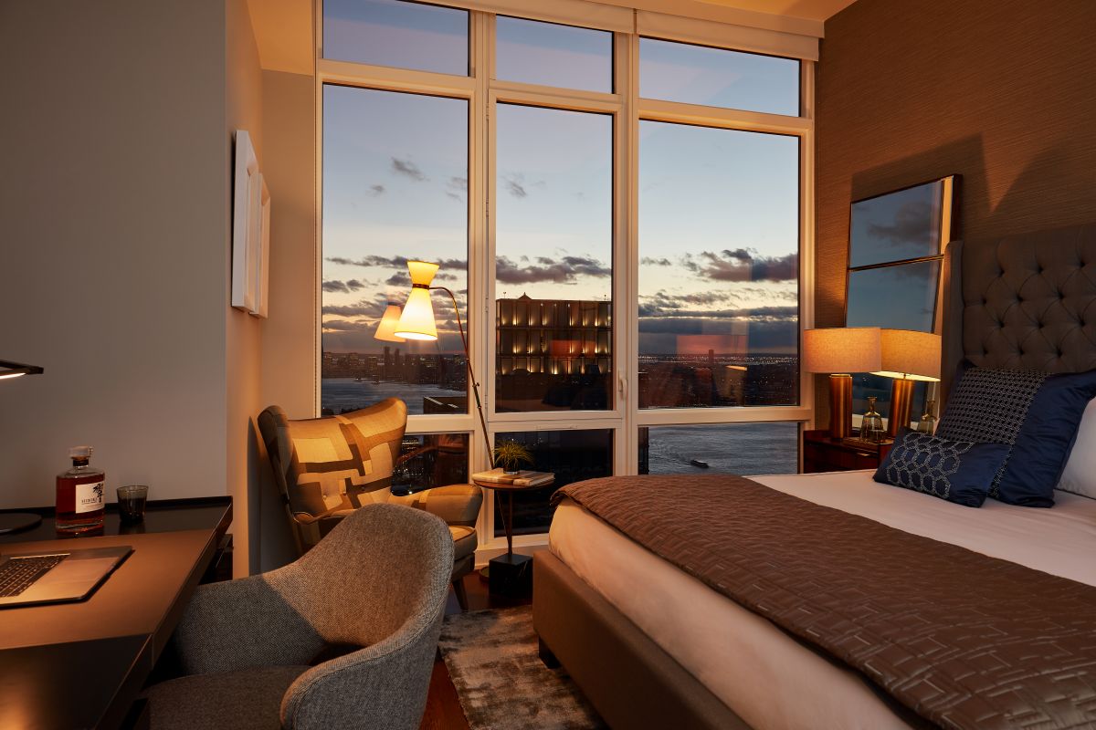
M 283 598 L 293 565 L 262 576 L 199 586 L 175 628 L 187 674 L 307 664 L 324 646 Z

